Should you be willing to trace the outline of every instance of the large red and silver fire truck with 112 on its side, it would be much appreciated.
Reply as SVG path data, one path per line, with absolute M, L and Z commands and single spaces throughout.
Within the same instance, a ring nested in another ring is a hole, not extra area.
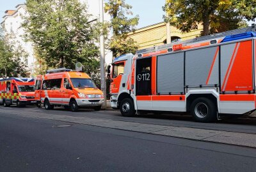
M 109 66 L 122 115 L 189 112 L 198 122 L 255 110 L 255 25 L 139 50 Z

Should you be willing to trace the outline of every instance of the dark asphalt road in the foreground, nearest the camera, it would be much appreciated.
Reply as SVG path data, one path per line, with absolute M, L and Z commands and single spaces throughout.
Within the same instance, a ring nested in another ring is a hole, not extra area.
M 59 112 L 74 115 L 49 111 Z M 80 113 L 85 112 L 106 113 Z M 0 131 L 0 171 L 256 171 L 253 148 L 20 117 L 1 109 Z

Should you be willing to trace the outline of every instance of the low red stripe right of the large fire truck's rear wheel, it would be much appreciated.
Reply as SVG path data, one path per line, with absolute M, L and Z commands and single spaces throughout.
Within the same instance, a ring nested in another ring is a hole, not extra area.
M 221 94 L 220 101 L 255 101 L 254 94 Z

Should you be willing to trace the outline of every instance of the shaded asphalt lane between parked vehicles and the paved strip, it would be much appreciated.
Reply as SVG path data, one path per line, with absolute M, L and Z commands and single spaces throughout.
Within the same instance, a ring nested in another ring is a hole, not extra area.
M 16 108 L 15 106 L 10 108 L 4 108 L 0 106 L 1 110 L 12 110 L 12 111 L 28 111 L 35 113 L 51 113 L 56 115 L 70 115 L 76 117 L 91 117 L 91 118 L 104 118 L 110 120 L 127 121 L 127 122 L 140 122 L 143 124 L 156 124 L 156 125 L 172 125 L 175 127 L 191 127 L 198 129 L 212 129 L 220 131 L 231 131 L 237 133 L 252 133 L 256 134 L 256 117 L 255 118 L 227 118 L 225 120 L 220 120 L 216 123 L 204 124 L 198 123 L 193 120 L 189 115 L 136 115 L 136 117 L 122 117 L 120 111 L 94 111 L 81 109 L 78 112 L 72 112 L 65 110 L 64 108 L 55 107 L 54 110 L 45 110 L 44 108 L 36 108 L 35 106 L 30 106 L 27 108 Z

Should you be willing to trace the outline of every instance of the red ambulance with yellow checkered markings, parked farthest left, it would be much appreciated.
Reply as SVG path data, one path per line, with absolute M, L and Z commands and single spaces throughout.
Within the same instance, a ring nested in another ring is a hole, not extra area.
M 34 78 L 0 80 L 0 104 L 4 104 L 4 107 L 12 104 L 18 107 L 36 104 Z

